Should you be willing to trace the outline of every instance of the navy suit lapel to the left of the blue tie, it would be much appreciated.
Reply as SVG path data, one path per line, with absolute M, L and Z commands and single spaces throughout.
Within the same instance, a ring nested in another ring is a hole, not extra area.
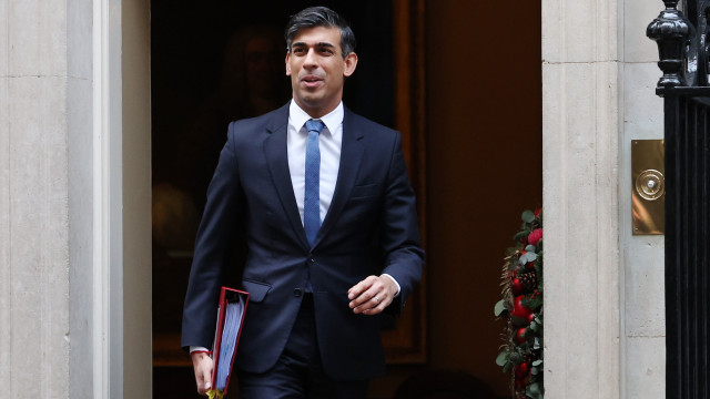
M 296 196 L 293 193 L 291 172 L 288 171 L 288 151 L 286 147 L 286 135 L 288 126 L 288 104 L 276 112 L 276 115 L 266 126 L 270 135 L 264 141 L 264 155 L 274 186 L 278 193 L 278 198 L 284 207 L 284 213 L 291 222 L 301 245 L 308 248 L 306 233 L 298 215 Z

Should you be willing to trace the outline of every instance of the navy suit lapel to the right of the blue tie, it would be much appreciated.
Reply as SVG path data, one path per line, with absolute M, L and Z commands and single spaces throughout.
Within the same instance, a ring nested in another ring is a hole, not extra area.
M 353 113 L 349 110 L 344 110 L 343 116 L 343 146 L 341 149 L 341 166 L 337 172 L 337 181 L 335 183 L 335 192 L 333 193 L 333 200 L 331 206 L 325 215 L 325 219 L 321 225 L 318 235 L 313 243 L 313 246 L 317 246 L 318 243 L 327 235 L 333 228 L 337 217 L 341 215 L 347 198 L 351 195 L 351 191 L 355 184 L 355 177 L 357 177 L 357 171 L 363 158 L 363 143 L 361 140 L 364 134 L 355 127 L 353 121 Z M 305 235 L 305 234 L 304 234 Z

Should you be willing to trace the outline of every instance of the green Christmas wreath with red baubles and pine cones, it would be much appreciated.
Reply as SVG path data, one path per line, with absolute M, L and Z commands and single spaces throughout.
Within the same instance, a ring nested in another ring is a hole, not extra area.
M 506 320 L 496 364 L 510 374 L 516 399 L 542 399 L 542 212 L 523 213 L 523 225 L 508 248 L 496 316 Z

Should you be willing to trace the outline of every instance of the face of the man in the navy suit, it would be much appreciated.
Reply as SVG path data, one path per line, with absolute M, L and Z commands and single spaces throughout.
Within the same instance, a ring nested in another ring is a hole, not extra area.
M 356 65 L 355 53 L 343 59 L 339 29 L 302 29 L 286 54 L 293 99 L 312 117 L 327 114 L 343 99 L 345 78 L 355 72 Z

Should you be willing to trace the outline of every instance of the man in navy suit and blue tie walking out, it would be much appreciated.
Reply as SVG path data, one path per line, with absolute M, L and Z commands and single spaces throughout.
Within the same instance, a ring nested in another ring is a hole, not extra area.
M 286 27 L 293 100 L 230 124 L 207 190 L 183 314 L 197 390 L 209 388 L 220 286 L 237 232 L 251 294 L 240 397 L 364 398 L 384 374 L 379 315 L 398 310 L 424 252 L 400 135 L 343 106 L 355 38 L 327 8 Z

